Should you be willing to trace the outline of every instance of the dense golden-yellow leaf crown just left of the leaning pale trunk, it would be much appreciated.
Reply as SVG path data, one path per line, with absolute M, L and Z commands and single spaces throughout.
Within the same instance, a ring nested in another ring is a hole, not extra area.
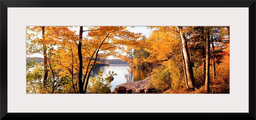
M 151 26 L 152 27 L 152 26 Z M 150 37 L 145 39 L 146 50 L 150 52 L 148 62 L 166 61 L 180 51 L 180 42 L 176 38 L 174 27 L 154 26 L 157 30 L 152 31 Z

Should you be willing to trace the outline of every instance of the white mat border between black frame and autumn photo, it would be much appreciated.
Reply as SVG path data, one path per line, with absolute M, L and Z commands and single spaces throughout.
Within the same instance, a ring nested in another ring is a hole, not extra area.
M 249 8 L 7 11 L 8 113 L 249 112 Z M 230 94 L 26 94 L 26 26 L 230 26 Z

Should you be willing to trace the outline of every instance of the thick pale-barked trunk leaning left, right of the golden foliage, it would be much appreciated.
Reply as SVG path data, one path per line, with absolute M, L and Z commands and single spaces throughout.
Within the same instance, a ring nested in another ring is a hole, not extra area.
M 186 69 L 186 77 L 188 81 L 188 89 L 194 89 L 195 88 L 195 79 L 194 79 L 194 74 L 193 74 L 193 69 L 192 69 L 192 64 L 189 58 L 189 53 L 188 53 L 188 46 L 187 46 L 187 39 L 185 37 L 185 33 L 183 33 L 182 27 L 177 26 L 177 30 L 179 31 L 180 38 L 181 38 L 181 46 L 182 46 L 182 53 L 184 57 L 184 62 L 185 62 L 185 69 Z

